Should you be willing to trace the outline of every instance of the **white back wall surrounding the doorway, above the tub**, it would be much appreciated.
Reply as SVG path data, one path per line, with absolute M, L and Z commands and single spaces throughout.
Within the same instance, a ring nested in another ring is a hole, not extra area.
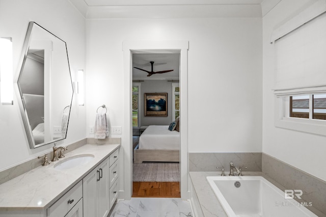
M 123 41 L 188 40 L 189 152 L 261 151 L 261 39 L 261 18 L 87 20 L 87 123 L 104 103 L 128 127 Z

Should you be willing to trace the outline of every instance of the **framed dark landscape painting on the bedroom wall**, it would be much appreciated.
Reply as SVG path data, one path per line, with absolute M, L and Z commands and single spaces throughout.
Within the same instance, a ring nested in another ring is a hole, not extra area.
M 145 116 L 168 116 L 168 93 L 145 93 Z

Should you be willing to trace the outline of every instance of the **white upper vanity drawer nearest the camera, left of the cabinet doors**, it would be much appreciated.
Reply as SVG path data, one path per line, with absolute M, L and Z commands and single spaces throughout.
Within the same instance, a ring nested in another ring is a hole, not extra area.
M 82 181 L 73 186 L 64 196 L 47 209 L 47 216 L 65 216 L 69 210 L 83 197 Z

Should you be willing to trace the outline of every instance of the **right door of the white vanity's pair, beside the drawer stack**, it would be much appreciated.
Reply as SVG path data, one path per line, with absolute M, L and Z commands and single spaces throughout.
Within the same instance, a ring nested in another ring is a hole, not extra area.
M 110 199 L 108 198 L 109 177 L 108 177 L 108 159 L 104 160 L 98 167 L 100 171 L 100 180 L 97 182 L 98 187 L 98 215 L 99 217 L 106 217 L 110 207 Z

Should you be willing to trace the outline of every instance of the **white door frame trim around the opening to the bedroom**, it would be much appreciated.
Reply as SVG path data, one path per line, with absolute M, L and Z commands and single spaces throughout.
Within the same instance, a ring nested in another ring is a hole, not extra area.
M 188 176 L 188 109 L 187 74 L 188 41 L 125 41 L 123 42 L 124 64 L 124 126 L 120 156 L 119 198 L 130 200 L 132 195 L 132 54 L 133 53 L 180 53 L 180 193 L 182 200 L 190 199 Z M 123 183 L 122 183 L 123 181 Z

